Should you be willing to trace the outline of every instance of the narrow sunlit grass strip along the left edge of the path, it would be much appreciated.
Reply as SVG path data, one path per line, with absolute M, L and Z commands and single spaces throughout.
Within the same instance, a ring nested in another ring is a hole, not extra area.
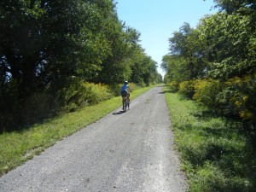
M 152 87 L 134 90 L 131 93 L 131 99 L 150 88 Z M 121 98 L 118 96 L 73 113 L 45 120 L 42 124 L 26 127 L 23 131 L 3 133 L 0 135 L 0 176 L 16 166 L 20 166 L 63 137 L 67 137 L 102 118 L 120 105 Z

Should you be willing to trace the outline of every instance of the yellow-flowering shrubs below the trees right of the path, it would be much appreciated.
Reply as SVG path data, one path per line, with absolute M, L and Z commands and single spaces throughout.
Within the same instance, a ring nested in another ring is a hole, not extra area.
M 201 79 L 195 82 L 193 99 L 225 115 L 239 117 L 253 122 L 256 119 L 256 75 L 233 78 L 225 82 Z M 189 95 L 191 83 L 180 84 L 180 92 Z

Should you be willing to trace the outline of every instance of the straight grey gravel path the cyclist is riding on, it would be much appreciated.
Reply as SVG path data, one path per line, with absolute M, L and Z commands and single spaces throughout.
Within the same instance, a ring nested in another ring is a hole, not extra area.
M 0 191 L 186 191 L 170 125 L 155 87 L 0 177 Z

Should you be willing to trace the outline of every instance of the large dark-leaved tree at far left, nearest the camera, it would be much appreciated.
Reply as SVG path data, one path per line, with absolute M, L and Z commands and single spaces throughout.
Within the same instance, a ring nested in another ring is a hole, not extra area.
M 110 0 L 3 0 L 0 10 L 3 124 L 7 116 L 22 121 L 26 103 L 37 94 L 49 99 L 44 104 L 37 99 L 35 105 L 48 105 L 52 95 L 78 82 L 73 78 L 91 79 L 111 54 L 104 33 L 114 13 Z

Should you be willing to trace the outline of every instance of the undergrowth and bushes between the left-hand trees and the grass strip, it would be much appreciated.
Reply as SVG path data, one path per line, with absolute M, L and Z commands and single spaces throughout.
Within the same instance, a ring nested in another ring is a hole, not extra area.
M 11 110 L 2 110 L 0 115 L 0 133 L 19 131 L 26 125 L 40 123 L 61 113 L 69 113 L 119 96 L 122 84 L 107 85 L 83 82 L 72 79 L 61 90 L 48 89 L 26 98 L 22 107 L 9 103 Z M 130 83 L 131 90 L 141 88 Z M 7 104 L 7 103 L 6 103 Z M 10 113 L 11 112 L 11 113 Z

